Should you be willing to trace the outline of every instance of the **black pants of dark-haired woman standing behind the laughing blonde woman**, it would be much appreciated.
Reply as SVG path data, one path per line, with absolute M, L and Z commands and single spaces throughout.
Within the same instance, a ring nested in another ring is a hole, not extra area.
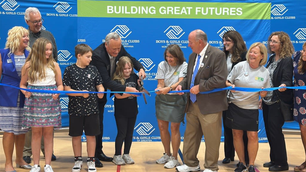
M 224 155 L 226 158 L 233 159 L 235 156 L 234 140 L 233 140 L 233 131 L 231 128 L 225 125 L 227 110 L 222 112 L 223 119 L 223 133 L 224 133 Z M 248 135 L 246 131 L 243 131 L 243 144 L 244 144 L 244 161 L 246 164 L 249 163 L 248 157 Z

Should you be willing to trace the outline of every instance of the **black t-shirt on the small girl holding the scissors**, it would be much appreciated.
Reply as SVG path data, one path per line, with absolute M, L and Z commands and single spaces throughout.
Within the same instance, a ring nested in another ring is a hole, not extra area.
M 131 76 L 125 79 L 124 85 L 127 87 L 138 88 L 137 80 L 139 77 L 132 73 Z M 120 83 L 118 80 L 116 82 Z M 120 83 L 121 84 L 121 83 Z M 115 115 L 127 116 L 129 118 L 136 117 L 138 114 L 137 97 L 129 96 L 124 99 L 114 99 Z

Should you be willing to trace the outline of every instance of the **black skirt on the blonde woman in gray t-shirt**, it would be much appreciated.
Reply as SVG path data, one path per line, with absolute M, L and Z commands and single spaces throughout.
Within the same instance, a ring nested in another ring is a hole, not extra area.
M 242 109 L 229 103 L 225 124 L 231 129 L 258 131 L 258 116 L 258 109 Z

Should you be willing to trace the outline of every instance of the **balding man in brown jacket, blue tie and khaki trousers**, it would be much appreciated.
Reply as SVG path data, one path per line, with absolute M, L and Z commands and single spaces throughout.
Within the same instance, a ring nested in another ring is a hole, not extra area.
M 207 35 L 194 30 L 188 36 L 189 56 L 187 76 L 176 90 L 189 90 L 183 157 L 185 164 L 179 172 L 200 171 L 197 153 L 201 138 L 205 137 L 205 172 L 218 171 L 219 147 L 222 131 L 222 111 L 227 110 L 226 91 L 200 94 L 215 88 L 224 88 L 227 77 L 225 54 L 207 43 Z M 183 93 L 180 93 L 183 94 Z

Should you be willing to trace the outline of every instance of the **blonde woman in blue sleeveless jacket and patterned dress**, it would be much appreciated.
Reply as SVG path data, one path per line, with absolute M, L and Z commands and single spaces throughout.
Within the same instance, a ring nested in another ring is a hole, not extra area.
M 9 30 L 4 49 L 0 49 L 0 83 L 19 87 L 21 67 L 30 52 L 29 32 L 26 28 L 15 26 Z M 13 167 L 14 145 L 16 167 L 31 169 L 32 166 L 22 159 L 26 130 L 21 129 L 24 95 L 19 89 L 0 86 L 0 129 L 3 134 L 5 154 L 4 170 L 16 172 Z M 3 101 L 5 100 L 5 101 Z

